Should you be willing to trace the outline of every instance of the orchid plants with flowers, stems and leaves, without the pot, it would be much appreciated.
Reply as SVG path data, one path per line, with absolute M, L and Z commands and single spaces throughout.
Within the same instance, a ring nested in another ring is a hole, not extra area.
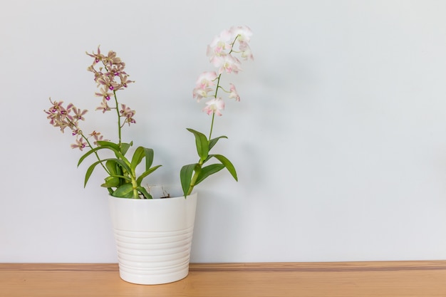
M 239 101 L 240 97 L 235 86 L 229 83 L 229 88 L 224 88 L 220 81 L 223 73 L 239 73 L 242 70 L 241 62 L 236 55 L 244 60 L 252 59 L 252 53 L 249 48 L 249 38 L 251 30 L 247 26 L 234 26 L 229 30 L 222 31 L 216 36 L 212 43 L 207 47 L 207 56 L 209 61 L 217 71 L 204 72 L 199 75 L 197 83 L 193 90 L 193 98 L 200 102 L 203 98 L 207 99 L 203 111 L 212 117 L 209 136 L 202 132 L 187 128 L 195 136 L 195 144 L 199 160 L 195 163 L 185 165 L 180 170 L 180 182 L 184 196 L 192 193 L 194 187 L 210 175 L 226 168 L 229 173 L 237 180 L 237 172 L 227 157 L 223 155 L 214 155 L 210 150 L 217 142 L 226 136 L 212 137 L 215 115 L 221 116 L 224 110 L 224 100 L 221 93 L 227 93 L 227 98 Z M 61 132 L 69 129 L 76 138 L 76 142 L 71 145 L 78 150 L 86 150 L 84 155 L 78 161 L 78 166 L 87 157 L 94 156 L 95 161 L 85 172 L 84 187 L 90 179 L 93 170 L 100 166 L 106 173 L 105 182 L 101 187 L 108 189 L 110 195 L 123 198 L 142 198 L 150 199 L 152 195 L 142 186 L 142 180 L 152 172 L 155 172 L 161 165 L 152 166 L 154 152 L 147 147 L 139 146 L 133 152 L 131 157 L 127 157 L 133 142 L 123 142 L 123 128 L 127 125 L 134 125 L 135 110 L 128 107 L 127 104 L 118 100 L 118 93 L 128 88 L 134 81 L 129 79 L 125 72 L 125 63 L 116 55 L 114 51 L 109 51 L 107 55 L 101 53 L 98 48 L 97 53 L 87 53 L 93 58 L 93 63 L 88 66 L 88 71 L 93 73 L 95 83 L 98 86 L 96 96 L 100 98 L 100 106 L 96 110 L 102 113 L 115 113 L 118 130 L 118 141 L 112 142 L 105 140 L 103 135 L 96 130 L 90 134 L 85 134 L 81 129 L 80 122 L 85 120 L 84 115 L 87 110 L 77 108 L 72 103 L 63 105 L 63 101 L 53 101 L 50 98 L 51 107 L 44 110 L 47 114 L 50 124 L 60 128 Z M 113 157 L 100 157 L 100 152 L 108 150 L 113 152 Z M 144 170 L 137 174 L 137 167 L 142 161 Z M 217 163 L 209 164 L 216 160 Z

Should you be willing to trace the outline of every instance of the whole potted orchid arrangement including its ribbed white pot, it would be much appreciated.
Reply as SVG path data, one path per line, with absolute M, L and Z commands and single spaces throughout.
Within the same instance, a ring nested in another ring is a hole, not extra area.
M 114 51 L 105 55 L 98 48 L 96 53 L 87 54 L 93 58 L 88 71 L 93 73 L 98 86 L 95 95 L 100 98 L 100 106 L 96 110 L 115 113 L 117 141 L 104 139 L 96 130 L 85 134 L 80 123 L 85 120 L 87 110 L 77 108 L 72 103 L 63 105 L 62 101 L 50 98 L 51 107 L 44 110 L 50 124 L 62 132 L 71 130 L 76 139 L 71 147 L 85 151 L 78 165 L 93 158 L 85 172 L 84 187 L 96 167 L 102 167 L 106 173 L 101 187 L 107 189 L 109 194 L 120 277 L 124 281 L 160 284 L 185 278 L 189 273 L 195 223 L 195 186 L 224 168 L 237 180 L 232 162 L 223 155 L 211 153 L 219 140 L 227 138 L 214 137 L 212 131 L 216 115 L 222 115 L 224 110 L 222 94 L 227 94 L 229 99 L 240 100 L 235 86 L 229 83 L 229 86 L 224 87 L 221 78 L 225 73 L 239 73 L 242 70 L 239 58 L 252 59 L 250 36 L 248 27 L 232 27 L 222 31 L 207 47 L 209 61 L 217 69 L 199 75 L 192 97 L 198 102 L 206 101 L 202 110 L 211 116 L 210 129 L 208 134 L 204 134 L 187 128 L 195 137 L 198 157 L 197 162 L 185 165 L 180 170 L 181 197 L 151 199 L 149 187 L 142 184 L 145 177 L 158 170 L 160 165 L 153 165 L 154 152 L 151 148 L 139 146 L 130 154 L 133 142 L 123 141 L 125 126 L 136 123 L 135 110 L 120 102 L 118 93 L 134 82 L 125 72 L 125 63 Z M 103 152 L 108 154 L 104 156 Z M 138 170 L 143 167 L 142 173 L 138 174 L 137 167 Z M 166 196 L 169 197 L 168 194 Z

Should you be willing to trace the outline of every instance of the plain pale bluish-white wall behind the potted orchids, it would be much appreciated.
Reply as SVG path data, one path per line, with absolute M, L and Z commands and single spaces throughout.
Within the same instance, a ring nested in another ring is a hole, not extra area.
M 199 187 L 193 262 L 446 259 L 445 1 L 1 1 L 0 262 L 115 262 L 105 192 L 48 125 L 48 97 L 108 123 L 85 71 L 113 49 L 136 80 L 127 140 L 177 182 L 192 99 L 222 29 L 254 31 L 215 135 L 239 182 Z M 111 135 L 113 129 L 102 128 Z M 113 137 L 111 135 L 110 137 Z

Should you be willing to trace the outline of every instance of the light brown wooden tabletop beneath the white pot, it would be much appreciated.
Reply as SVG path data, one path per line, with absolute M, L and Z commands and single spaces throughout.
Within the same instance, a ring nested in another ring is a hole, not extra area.
M 0 264 L 1 297 L 446 296 L 446 261 L 191 264 L 187 278 L 143 286 L 118 264 Z

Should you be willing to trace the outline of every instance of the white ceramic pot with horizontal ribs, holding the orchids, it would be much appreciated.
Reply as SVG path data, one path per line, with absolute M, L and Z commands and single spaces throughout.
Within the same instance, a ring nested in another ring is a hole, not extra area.
M 153 285 L 187 276 L 197 193 L 187 199 L 109 196 L 109 205 L 124 281 Z

